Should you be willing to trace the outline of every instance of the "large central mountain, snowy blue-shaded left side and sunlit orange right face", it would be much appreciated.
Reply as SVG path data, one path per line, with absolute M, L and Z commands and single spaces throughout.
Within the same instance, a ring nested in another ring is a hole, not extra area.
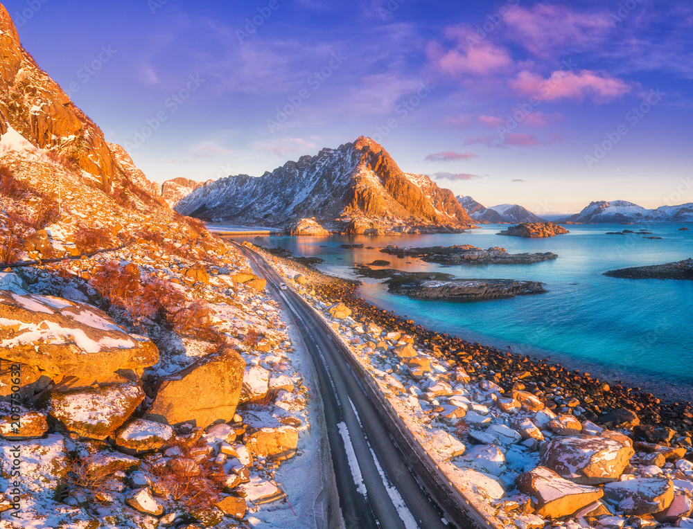
M 223 178 L 197 188 L 175 210 L 201 219 L 286 227 L 315 218 L 332 231 L 459 231 L 473 220 L 448 189 L 403 172 L 385 149 L 360 137 L 301 156 L 261 177 Z

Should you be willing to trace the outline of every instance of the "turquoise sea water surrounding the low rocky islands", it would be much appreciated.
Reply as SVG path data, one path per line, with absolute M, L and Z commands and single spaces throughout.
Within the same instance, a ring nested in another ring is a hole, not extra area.
M 693 399 L 693 329 L 690 324 L 693 282 L 626 280 L 604 271 L 662 264 L 693 257 L 692 231 L 685 224 L 567 226 L 570 233 L 549 239 L 495 235 L 503 226 L 486 225 L 457 235 L 401 237 L 265 237 L 265 246 L 282 246 L 294 255 L 323 258 L 322 269 L 353 277 L 351 265 L 376 259 L 404 270 L 437 270 L 459 278 L 509 278 L 545 283 L 546 294 L 475 303 L 417 301 L 387 293 L 375 280 L 363 280 L 362 296 L 416 323 L 471 341 L 549 358 L 583 368 L 603 379 L 623 380 L 673 400 Z M 693 228 L 693 226 L 688 225 Z M 646 228 L 662 240 L 642 235 L 606 235 Z M 252 237 L 249 237 L 252 239 Z M 375 249 L 340 249 L 363 243 Z M 502 246 L 511 253 L 552 251 L 559 258 L 527 265 L 441 267 L 416 259 L 398 259 L 378 250 L 388 244 Z

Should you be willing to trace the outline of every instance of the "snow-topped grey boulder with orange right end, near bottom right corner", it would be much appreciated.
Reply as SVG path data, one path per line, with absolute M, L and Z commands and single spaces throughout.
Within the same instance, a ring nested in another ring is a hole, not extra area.
M 674 501 L 670 479 L 637 478 L 604 485 L 604 498 L 624 514 L 653 514 L 665 510 Z

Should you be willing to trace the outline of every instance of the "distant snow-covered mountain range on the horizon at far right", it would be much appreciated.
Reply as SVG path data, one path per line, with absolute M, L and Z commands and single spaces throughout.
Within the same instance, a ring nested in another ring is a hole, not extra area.
M 625 200 L 591 202 L 580 213 L 565 219 L 565 222 L 693 222 L 693 203 L 646 209 Z

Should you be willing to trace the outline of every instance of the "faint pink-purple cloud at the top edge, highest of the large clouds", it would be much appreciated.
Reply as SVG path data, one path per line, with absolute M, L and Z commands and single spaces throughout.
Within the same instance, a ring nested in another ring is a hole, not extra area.
M 505 24 L 511 38 L 538 57 L 553 57 L 567 45 L 593 47 L 611 30 L 607 13 L 580 13 L 547 3 L 513 7 Z

